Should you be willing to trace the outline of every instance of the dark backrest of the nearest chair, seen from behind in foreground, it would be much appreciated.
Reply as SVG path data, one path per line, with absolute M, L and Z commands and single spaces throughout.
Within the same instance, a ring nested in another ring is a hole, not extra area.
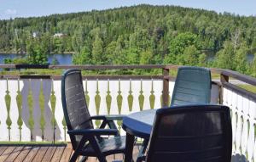
M 230 162 L 230 109 L 177 106 L 156 111 L 146 161 Z

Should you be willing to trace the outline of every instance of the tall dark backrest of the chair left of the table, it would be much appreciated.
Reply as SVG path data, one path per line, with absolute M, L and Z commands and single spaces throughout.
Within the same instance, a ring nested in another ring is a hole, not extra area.
M 80 70 L 67 70 L 61 78 L 61 101 L 67 130 L 93 128 L 84 98 Z M 77 148 L 81 136 L 70 135 L 73 148 Z

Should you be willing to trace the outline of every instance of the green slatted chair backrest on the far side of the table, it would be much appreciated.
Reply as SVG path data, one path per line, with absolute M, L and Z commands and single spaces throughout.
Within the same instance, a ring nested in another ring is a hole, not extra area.
M 171 106 L 210 103 L 211 72 L 199 67 L 180 67 L 172 92 Z

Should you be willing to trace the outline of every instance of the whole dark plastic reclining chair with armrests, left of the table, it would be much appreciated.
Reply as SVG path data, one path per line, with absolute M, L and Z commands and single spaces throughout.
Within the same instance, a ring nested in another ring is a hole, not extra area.
M 122 116 L 90 116 L 84 98 L 80 70 L 67 70 L 62 75 L 61 99 L 67 133 L 74 150 L 71 162 L 76 161 L 79 155 L 84 156 L 84 159 L 93 156 L 101 162 L 106 162 L 105 157 L 109 154 L 125 153 L 125 137 L 119 136 L 119 131 L 113 122 L 113 120 L 122 120 Z M 100 129 L 93 128 L 92 120 L 102 120 Z M 110 129 L 103 129 L 107 125 Z M 115 137 L 106 138 L 110 135 Z

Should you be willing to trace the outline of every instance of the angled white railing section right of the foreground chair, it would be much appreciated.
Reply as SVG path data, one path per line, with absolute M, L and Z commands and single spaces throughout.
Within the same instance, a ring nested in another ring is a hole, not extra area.
M 224 104 L 231 109 L 234 156 L 256 161 L 256 102 L 224 88 Z

